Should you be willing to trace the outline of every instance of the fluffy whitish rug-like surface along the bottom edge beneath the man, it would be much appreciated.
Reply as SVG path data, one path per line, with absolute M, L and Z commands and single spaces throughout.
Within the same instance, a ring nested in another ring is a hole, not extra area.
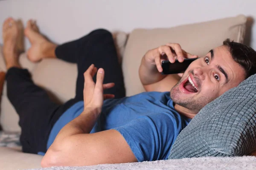
M 256 157 L 201 157 L 145 161 L 126 164 L 101 164 L 84 167 L 51 167 L 33 170 L 255 170 Z

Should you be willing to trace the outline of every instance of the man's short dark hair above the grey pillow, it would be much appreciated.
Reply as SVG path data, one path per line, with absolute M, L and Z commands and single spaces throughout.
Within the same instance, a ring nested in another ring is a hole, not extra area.
M 230 39 L 225 40 L 223 45 L 229 48 L 235 62 L 244 68 L 246 79 L 256 74 L 256 51 L 253 48 Z

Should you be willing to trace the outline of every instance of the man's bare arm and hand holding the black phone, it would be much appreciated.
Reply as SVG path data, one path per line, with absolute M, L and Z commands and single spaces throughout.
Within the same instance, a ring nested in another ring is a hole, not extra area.
M 186 58 L 197 58 L 184 51 L 177 43 L 168 43 L 158 48 L 149 50 L 143 57 L 140 65 L 140 81 L 146 91 L 170 91 L 177 84 L 183 73 L 162 75 L 162 61 L 169 60 L 174 63 L 175 59 L 183 62 Z

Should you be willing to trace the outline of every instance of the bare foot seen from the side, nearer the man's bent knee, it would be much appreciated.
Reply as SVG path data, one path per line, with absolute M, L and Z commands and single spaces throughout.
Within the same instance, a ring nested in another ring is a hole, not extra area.
M 27 22 L 24 33 L 31 43 L 31 47 L 27 52 L 30 61 L 38 62 L 43 58 L 55 58 L 55 48 L 57 45 L 49 42 L 40 34 L 35 21 L 29 20 Z

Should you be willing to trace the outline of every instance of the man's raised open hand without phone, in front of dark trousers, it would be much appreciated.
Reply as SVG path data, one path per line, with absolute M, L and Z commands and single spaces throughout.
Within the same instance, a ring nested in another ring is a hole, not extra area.
M 93 77 L 97 73 L 96 84 L 93 82 Z M 104 70 L 97 68 L 92 64 L 84 72 L 84 110 L 96 109 L 97 113 L 101 113 L 103 100 L 111 99 L 115 96 L 113 94 L 103 94 L 104 89 L 112 88 L 114 83 L 103 84 Z

